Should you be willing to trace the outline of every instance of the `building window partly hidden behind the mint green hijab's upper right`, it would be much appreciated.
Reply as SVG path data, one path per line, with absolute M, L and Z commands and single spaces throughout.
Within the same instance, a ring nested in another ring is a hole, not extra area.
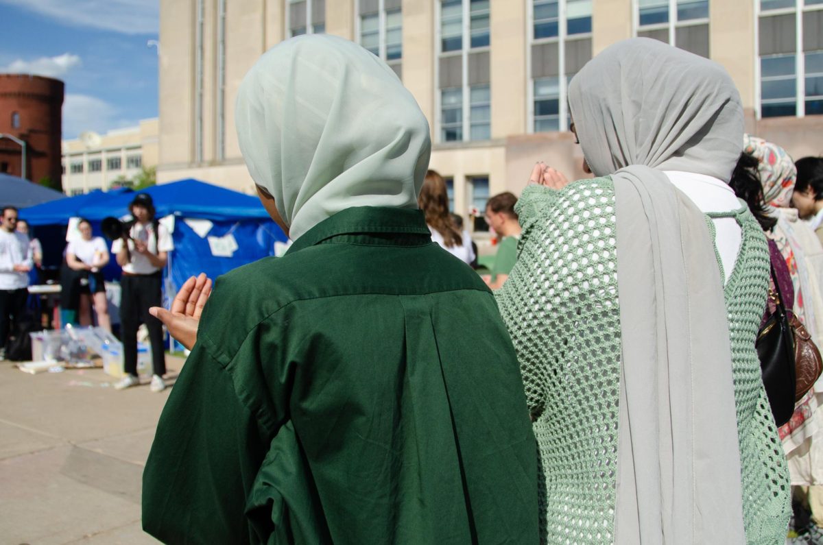
M 359 0 L 360 45 L 382 58 L 401 77 L 403 19 L 400 0 Z

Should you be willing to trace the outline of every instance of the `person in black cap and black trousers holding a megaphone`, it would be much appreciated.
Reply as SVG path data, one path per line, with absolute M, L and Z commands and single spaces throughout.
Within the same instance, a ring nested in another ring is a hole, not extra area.
M 170 232 L 155 219 L 151 195 L 137 193 L 129 210 L 134 223 L 123 238 L 114 240 L 111 246 L 112 254 L 123 268 L 120 279 L 120 337 L 123 341 L 123 369 L 126 372 L 114 387 L 124 389 L 140 384 L 137 379 L 137 328 L 140 324 L 146 324 L 154 365 L 151 391 L 160 392 L 165 389 L 163 324 L 149 314 L 149 309 L 162 305 L 163 268 L 168 252 L 174 249 L 174 242 Z

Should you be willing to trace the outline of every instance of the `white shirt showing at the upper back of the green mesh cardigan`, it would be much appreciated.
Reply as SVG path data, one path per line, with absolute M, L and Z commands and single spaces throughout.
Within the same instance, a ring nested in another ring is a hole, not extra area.
M 663 174 L 667 175 L 677 189 L 686 193 L 686 197 L 700 208 L 700 212 L 730 212 L 744 206 L 734 194 L 734 189 L 722 179 L 680 170 L 666 170 Z M 734 264 L 737 263 L 737 254 L 743 244 L 743 232 L 733 217 L 716 217 L 712 222 L 714 244 L 720 254 L 720 263 L 723 263 L 725 283 L 732 277 Z

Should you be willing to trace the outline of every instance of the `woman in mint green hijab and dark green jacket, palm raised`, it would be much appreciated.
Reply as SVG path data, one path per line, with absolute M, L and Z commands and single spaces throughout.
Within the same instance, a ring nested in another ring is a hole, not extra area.
M 199 322 L 203 279 L 173 313 L 155 310 L 196 342 L 146 463 L 146 531 L 537 543 L 514 348 L 491 292 L 417 209 L 430 141 L 412 95 L 359 45 L 304 36 L 253 66 L 235 119 L 294 244 L 218 278 Z

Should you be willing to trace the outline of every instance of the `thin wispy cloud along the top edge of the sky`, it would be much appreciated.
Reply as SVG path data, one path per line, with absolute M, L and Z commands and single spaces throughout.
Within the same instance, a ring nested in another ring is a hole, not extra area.
M 0 0 L 52 18 L 58 23 L 121 34 L 157 34 L 159 0 Z

